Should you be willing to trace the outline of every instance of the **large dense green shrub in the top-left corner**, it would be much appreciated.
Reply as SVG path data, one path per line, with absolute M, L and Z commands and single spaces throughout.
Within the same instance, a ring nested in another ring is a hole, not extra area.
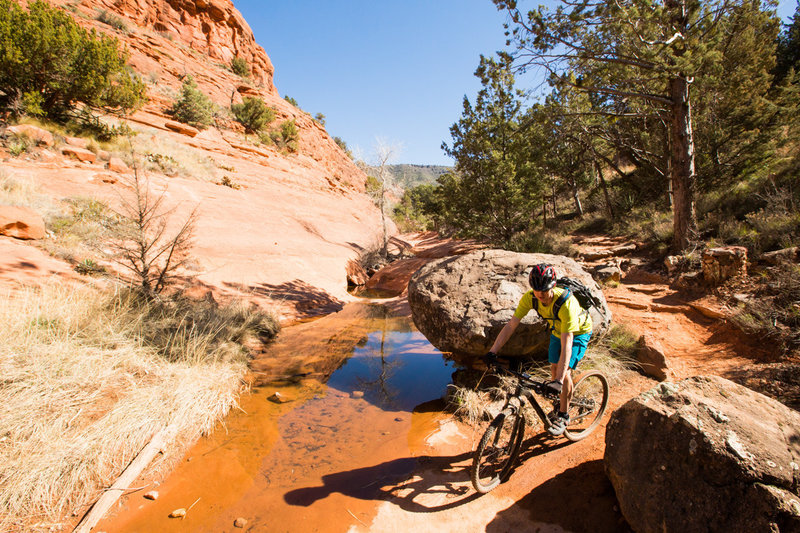
M 0 0 L 0 107 L 57 119 L 78 103 L 127 113 L 146 99 L 127 59 L 117 39 L 81 28 L 46 2 L 26 11 Z

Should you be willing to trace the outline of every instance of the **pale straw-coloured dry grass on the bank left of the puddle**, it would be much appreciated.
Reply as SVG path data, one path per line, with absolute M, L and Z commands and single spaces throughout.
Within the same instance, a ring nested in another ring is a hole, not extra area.
M 236 405 L 247 335 L 198 325 L 180 306 L 168 328 L 169 305 L 140 304 L 127 291 L 63 286 L 2 296 L 0 530 L 58 525 L 156 431 L 192 440 Z

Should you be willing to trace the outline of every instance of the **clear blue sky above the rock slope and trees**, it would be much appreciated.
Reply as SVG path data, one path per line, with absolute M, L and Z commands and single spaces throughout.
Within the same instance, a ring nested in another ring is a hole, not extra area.
M 440 146 L 474 100 L 480 54 L 505 44 L 491 0 L 234 0 L 275 66 L 275 85 L 370 162 L 450 165 Z M 785 21 L 797 0 L 780 0 Z

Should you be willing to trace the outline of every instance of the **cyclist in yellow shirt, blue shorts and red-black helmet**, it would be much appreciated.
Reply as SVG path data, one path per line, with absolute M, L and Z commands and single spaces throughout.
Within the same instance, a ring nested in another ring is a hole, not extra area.
M 572 397 L 571 370 L 583 359 L 586 345 L 592 336 L 592 318 L 581 307 L 574 294 L 570 294 L 561 305 L 558 316 L 553 316 L 553 304 L 567 290 L 556 287 L 556 279 L 556 271 L 552 265 L 533 265 L 528 277 L 531 290 L 522 295 L 514 316 L 503 326 L 485 357 L 487 363 L 496 364 L 497 353 L 535 305 L 539 315 L 548 323 L 551 333 L 548 349 L 551 381 L 547 382 L 547 389 L 557 394 L 560 400 L 558 411 L 548 415 L 552 425 L 547 431 L 553 436 L 564 433 L 569 422 L 567 406 Z

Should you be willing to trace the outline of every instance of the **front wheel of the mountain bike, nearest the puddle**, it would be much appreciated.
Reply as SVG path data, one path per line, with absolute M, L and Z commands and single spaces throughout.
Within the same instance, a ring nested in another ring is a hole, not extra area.
M 519 456 L 525 418 L 509 408 L 497 415 L 481 438 L 472 460 L 472 486 L 486 494 L 505 481 Z

